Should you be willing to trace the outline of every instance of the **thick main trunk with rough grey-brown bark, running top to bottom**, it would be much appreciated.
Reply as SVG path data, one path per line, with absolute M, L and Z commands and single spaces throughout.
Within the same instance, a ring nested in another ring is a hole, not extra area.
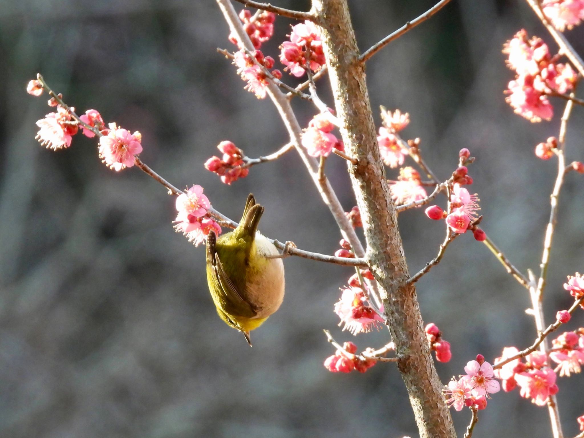
M 399 286 L 409 277 L 408 266 L 349 9 L 346 0 L 313 0 L 312 12 L 324 43 L 337 116 L 343 123 L 343 141 L 349 155 L 359 159 L 356 165 L 349 163 L 349 173 L 363 218 L 366 258 L 379 284 L 420 437 L 453 438 L 456 433 L 427 347 L 415 286 Z

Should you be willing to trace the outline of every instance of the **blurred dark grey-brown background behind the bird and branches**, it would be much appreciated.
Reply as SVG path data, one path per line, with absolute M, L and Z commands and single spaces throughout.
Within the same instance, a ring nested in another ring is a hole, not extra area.
M 279 5 L 308 10 L 308 1 Z M 434 1 L 350 0 L 362 50 L 426 11 Z M 236 4 L 237 9 L 241 5 Z M 262 50 L 276 58 L 292 22 L 279 18 Z M 440 178 L 458 150 L 477 157 L 470 174 L 481 198 L 481 226 L 519 269 L 537 268 L 555 162 L 533 154 L 557 135 L 563 102 L 550 122 L 513 114 L 503 89 L 513 78 L 502 44 L 524 27 L 555 53 L 551 37 L 522 1 L 456 1 L 367 64 L 373 108 L 409 112 L 406 138 L 422 138 Z M 141 158 L 176 186 L 205 187 L 213 206 L 238 218 L 253 192 L 266 206 L 262 232 L 303 249 L 333 253 L 339 232 L 295 152 L 251 169 L 232 186 L 203 168 L 221 140 L 249 157 L 287 142 L 269 100 L 245 92 L 230 61 L 228 29 L 213 1 L 5 0 L 0 5 L 0 436 L 3 438 L 417 436 L 404 384 L 391 364 L 366 374 L 332 374 L 322 329 L 360 348 L 388 342 L 387 331 L 356 339 L 336 327 L 332 308 L 353 273 L 290 257 L 286 299 L 253 332 L 253 349 L 215 314 L 204 249 L 172 229 L 174 201 L 137 169 L 113 172 L 96 144 L 78 135 L 53 152 L 34 140 L 51 112 L 46 95 L 25 86 L 41 72 L 79 113 L 140 130 Z M 584 26 L 566 32 L 584 53 Z M 282 68 L 279 61 L 276 67 Z M 287 77 L 290 84 L 293 78 Z M 332 102 L 328 79 L 318 86 Z M 294 102 L 303 126 L 315 109 Z M 380 117 L 376 111 L 376 121 Z M 575 107 L 568 159 L 583 159 L 584 111 Z M 326 172 L 349 210 L 345 163 Z M 388 176 L 397 173 L 388 169 Z M 567 308 L 565 276 L 584 269 L 582 176 L 561 194 L 545 296 L 546 317 Z M 443 204 L 444 200 L 440 200 Z M 443 226 L 421 210 L 399 218 L 410 271 L 434 257 Z M 418 283 L 426 322 L 452 344 L 437 364 L 446 382 L 468 360 L 535 337 L 525 290 L 470 235 Z M 582 312 L 568 329 L 583 325 Z M 566 436 L 584 413 L 582 376 L 559 380 Z M 454 412 L 463 433 L 470 416 Z M 496 394 L 482 411 L 481 436 L 550 436 L 545 408 L 517 391 Z

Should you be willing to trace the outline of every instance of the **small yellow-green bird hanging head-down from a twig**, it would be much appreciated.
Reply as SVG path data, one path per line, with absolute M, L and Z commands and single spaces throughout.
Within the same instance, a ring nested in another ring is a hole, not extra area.
M 207 236 L 207 282 L 219 317 L 244 333 L 258 328 L 284 299 L 284 263 L 276 246 L 258 231 L 263 207 L 253 194 L 235 230 Z

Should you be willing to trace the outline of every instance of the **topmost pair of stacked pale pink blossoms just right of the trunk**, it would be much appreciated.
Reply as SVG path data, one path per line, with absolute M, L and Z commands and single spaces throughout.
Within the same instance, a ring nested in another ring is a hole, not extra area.
M 381 118 L 383 126 L 379 128 L 377 142 L 381 159 L 386 166 L 397 168 L 404 164 L 405 156 L 408 155 L 408 148 L 396 135 L 409 124 L 409 114 L 402 113 L 400 110 L 395 112 L 382 110 Z

